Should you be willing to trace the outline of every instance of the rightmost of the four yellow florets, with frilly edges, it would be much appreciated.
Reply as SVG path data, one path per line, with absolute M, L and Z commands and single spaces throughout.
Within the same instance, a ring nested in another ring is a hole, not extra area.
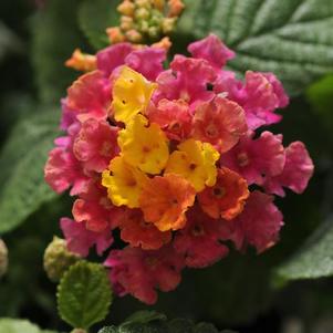
M 205 186 L 215 185 L 219 157 L 210 144 L 187 139 L 170 155 L 165 173 L 183 176 L 197 191 L 201 191 Z

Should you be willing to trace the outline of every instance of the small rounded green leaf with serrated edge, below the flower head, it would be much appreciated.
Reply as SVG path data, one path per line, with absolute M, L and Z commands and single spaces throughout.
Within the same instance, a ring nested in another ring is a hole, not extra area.
M 58 288 L 60 316 L 75 329 L 87 330 L 102 321 L 111 302 L 111 285 L 101 264 L 77 262 L 66 271 Z

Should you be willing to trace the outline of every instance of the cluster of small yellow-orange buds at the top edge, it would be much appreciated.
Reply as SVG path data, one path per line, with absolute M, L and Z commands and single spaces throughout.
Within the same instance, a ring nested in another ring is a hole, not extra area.
M 122 14 L 119 27 L 106 30 L 111 43 L 158 41 L 170 34 L 185 4 L 181 0 L 123 0 L 117 7 Z M 162 42 L 167 46 L 166 40 Z

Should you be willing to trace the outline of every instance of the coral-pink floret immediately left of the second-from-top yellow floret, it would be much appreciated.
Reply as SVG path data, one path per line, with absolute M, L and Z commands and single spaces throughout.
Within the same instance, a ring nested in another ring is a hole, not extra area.
M 75 138 L 73 152 L 87 170 L 102 173 L 118 154 L 117 127 L 105 121 L 87 119 Z

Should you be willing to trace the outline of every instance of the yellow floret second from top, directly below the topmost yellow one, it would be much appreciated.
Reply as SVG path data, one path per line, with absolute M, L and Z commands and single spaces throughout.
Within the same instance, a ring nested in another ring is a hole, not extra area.
M 169 157 L 168 139 L 159 126 L 136 115 L 118 134 L 122 156 L 132 166 L 147 174 L 159 174 Z

